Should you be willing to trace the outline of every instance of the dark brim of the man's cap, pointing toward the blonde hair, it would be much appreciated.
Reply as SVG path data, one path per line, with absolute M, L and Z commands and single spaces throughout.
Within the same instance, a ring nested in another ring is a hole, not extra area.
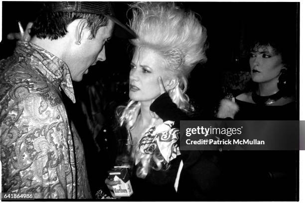
M 111 15 L 105 15 L 108 19 L 112 20 L 118 26 L 114 28 L 114 35 L 123 39 L 135 39 L 137 38 L 137 34 L 125 26 L 122 22 L 120 22 L 117 18 Z

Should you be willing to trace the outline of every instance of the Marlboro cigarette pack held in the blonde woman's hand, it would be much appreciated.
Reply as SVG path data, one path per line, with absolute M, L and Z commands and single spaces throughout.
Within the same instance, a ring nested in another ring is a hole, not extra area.
M 116 197 L 130 197 L 133 194 L 133 188 L 130 183 L 128 168 L 115 167 L 108 171 L 108 178 L 117 181 L 118 185 L 112 186 Z

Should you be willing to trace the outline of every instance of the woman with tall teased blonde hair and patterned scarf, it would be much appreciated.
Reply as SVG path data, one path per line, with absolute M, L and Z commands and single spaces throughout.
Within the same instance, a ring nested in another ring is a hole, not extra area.
M 194 110 L 185 94 L 187 77 L 206 61 L 206 29 L 194 12 L 173 2 L 135 2 L 131 9 L 138 38 L 131 40 L 130 102 L 119 108 L 119 122 L 136 145 L 133 196 L 170 200 L 183 166 L 179 120 Z M 116 183 L 106 184 L 112 189 Z

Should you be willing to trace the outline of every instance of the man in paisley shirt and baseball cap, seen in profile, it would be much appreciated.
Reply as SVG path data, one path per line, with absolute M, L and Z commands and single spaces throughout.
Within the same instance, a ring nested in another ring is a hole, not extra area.
M 114 24 L 109 2 L 49 2 L 29 42 L 0 61 L 2 192 L 35 199 L 90 199 L 82 142 L 61 90 L 75 102 L 73 81 L 105 61 Z

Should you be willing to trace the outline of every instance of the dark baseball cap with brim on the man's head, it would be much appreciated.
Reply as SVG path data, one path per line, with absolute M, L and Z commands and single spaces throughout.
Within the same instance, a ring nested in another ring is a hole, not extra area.
M 51 3 L 53 12 L 82 12 L 102 14 L 112 20 L 116 25 L 114 34 L 119 38 L 134 39 L 137 34 L 120 22 L 116 17 L 113 6 L 109 1 L 54 1 Z

